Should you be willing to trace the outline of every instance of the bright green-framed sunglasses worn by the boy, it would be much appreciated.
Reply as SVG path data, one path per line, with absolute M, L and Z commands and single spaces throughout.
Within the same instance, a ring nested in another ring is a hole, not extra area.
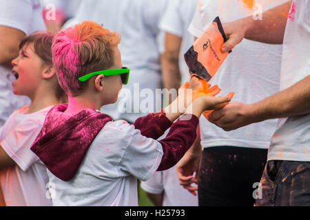
M 98 72 L 93 72 L 90 74 L 86 74 L 85 76 L 82 76 L 79 78 L 81 82 L 85 82 L 89 78 L 95 75 L 102 74 L 103 76 L 114 76 L 114 75 L 121 75 L 123 85 L 127 85 L 128 80 L 129 80 L 129 74 L 130 74 L 130 68 L 128 67 L 123 67 L 122 69 L 106 69 L 106 70 L 101 70 Z

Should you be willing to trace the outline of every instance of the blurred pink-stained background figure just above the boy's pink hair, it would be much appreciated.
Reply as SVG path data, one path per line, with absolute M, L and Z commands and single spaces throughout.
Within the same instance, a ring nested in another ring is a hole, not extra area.
M 61 27 L 76 14 L 81 0 L 40 0 L 43 6 L 43 19 L 49 32 L 56 34 Z

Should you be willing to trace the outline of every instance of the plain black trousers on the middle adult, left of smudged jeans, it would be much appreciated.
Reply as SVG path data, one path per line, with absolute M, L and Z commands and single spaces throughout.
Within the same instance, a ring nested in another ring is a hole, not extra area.
M 205 148 L 198 172 L 199 206 L 254 206 L 267 149 Z

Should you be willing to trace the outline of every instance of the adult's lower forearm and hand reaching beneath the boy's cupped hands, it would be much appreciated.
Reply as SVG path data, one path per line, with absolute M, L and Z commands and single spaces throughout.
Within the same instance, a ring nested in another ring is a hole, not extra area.
M 253 104 L 232 102 L 209 114 L 209 121 L 225 131 L 262 122 L 310 113 L 310 76 L 295 85 Z

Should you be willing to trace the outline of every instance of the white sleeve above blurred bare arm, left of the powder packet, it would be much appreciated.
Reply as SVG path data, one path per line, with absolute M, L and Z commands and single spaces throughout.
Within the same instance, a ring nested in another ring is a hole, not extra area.
M 182 16 L 178 10 L 180 7 L 179 0 L 169 0 L 167 8 L 163 14 L 159 28 L 163 32 L 168 32 L 176 36 L 182 37 L 183 35 L 183 22 Z

